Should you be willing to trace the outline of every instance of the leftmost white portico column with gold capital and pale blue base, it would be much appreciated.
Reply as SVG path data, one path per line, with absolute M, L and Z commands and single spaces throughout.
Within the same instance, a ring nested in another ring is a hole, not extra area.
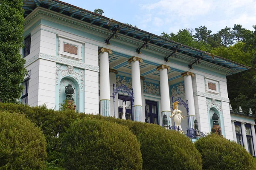
M 108 54 L 112 54 L 110 49 L 101 48 L 99 50 L 99 112 L 102 116 L 110 116 Z

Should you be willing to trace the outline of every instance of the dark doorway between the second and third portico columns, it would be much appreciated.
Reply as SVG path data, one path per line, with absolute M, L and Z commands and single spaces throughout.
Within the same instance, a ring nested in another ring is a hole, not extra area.
M 157 102 L 146 100 L 146 106 L 148 108 L 148 122 L 158 125 L 159 123 Z

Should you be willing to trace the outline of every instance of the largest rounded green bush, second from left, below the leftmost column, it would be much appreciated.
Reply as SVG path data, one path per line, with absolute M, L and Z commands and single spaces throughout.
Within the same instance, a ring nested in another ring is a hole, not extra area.
M 136 136 L 127 127 L 90 117 L 65 133 L 63 158 L 67 169 L 142 169 Z

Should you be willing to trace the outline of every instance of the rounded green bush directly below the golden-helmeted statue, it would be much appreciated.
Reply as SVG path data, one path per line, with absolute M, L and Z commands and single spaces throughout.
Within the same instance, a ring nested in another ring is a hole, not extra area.
M 198 150 L 188 137 L 159 127 L 143 129 L 138 136 L 145 170 L 201 170 Z

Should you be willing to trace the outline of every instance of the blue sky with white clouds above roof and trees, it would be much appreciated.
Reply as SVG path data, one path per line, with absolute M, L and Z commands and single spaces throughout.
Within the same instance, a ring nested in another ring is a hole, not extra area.
M 183 28 L 206 26 L 216 33 L 240 24 L 253 30 L 256 0 L 62 0 L 94 11 L 101 8 L 108 18 L 160 35 Z

